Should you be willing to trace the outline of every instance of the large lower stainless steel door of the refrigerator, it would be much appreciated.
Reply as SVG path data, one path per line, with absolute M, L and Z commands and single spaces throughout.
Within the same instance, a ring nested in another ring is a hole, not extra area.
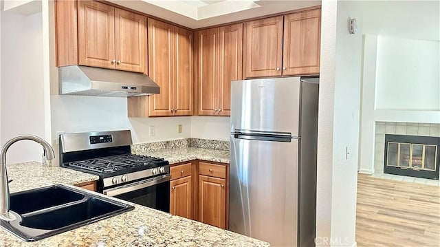
M 299 140 L 230 141 L 229 230 L 297 246 Z

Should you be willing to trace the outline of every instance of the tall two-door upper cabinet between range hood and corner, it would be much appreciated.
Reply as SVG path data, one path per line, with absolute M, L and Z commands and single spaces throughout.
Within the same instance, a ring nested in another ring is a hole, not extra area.
M 148 73 L 160 87 L 148 96 L 148 116 L 192 115 L 192 32 L 148 19 L 148 50 Z

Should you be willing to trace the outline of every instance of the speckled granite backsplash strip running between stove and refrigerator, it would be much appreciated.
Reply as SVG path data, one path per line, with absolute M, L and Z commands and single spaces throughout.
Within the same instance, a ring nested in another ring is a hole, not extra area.
M 229 150 L 229 142 L 223 140 L 206 140 L 186 138 L 166 140 L 161 142 L 147 142 L 131 145 L 132 153 L 150 153 L 161 149 L 181 149 L 185 147 L 199 147 L 203 149 Z

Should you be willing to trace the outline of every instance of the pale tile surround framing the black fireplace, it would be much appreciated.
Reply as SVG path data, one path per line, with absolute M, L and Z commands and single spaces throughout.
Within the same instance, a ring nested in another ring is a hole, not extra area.
M 374 169 L 376 174 L 384 173 L 385 134 L 440 137 L 440 124 L 376 122 L 374 149 Z

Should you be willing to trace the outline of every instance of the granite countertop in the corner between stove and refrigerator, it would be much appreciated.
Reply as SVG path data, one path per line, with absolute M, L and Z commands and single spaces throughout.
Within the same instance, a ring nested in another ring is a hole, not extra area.
M 170 164 L 186 162 L 189 160 L 208 160 L 229 163 L 229 151 L 217 149 L 202 149 L 199 147 L 182 147 L 176 149 L 161 149 L 153 152 L 135 151 L 142 155 L 151 155 L 168 160 Z

